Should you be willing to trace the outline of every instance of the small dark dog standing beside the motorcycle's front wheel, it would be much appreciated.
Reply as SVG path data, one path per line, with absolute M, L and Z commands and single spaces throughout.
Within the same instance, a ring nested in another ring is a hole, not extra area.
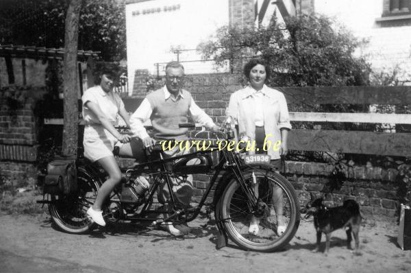
M 361 214 L 360 205 L 355 200 L 345 200 L 343 206 L 327 208 L 323 204 L 323 198 L 318 198 L 306 206 L 306 219 L 314 216 L 314 226 L 316 230 L 315 252 L 320 250 L 322 233 L 325 234 L 325 253 L 329 251 L 329 239 L 331 233 L 338 228 L 345 228 L 347 233 L 347 248 L 351 249 L 351 233 L 356 241 L 356 252 L 358 252 Z

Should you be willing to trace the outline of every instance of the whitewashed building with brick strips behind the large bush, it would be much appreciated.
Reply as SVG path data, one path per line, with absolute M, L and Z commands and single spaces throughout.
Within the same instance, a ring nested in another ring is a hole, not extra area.
M 184 63 L 186 73 L 223 72 L 212 61 L 200 62 L 195 49 L 223 25 L 268 25 L 274 18 L 324 14 L 368 40 L 358 54 L 374 71 L 395 68 L 404 82 L 411 71 L 411 0 L 127 0 L 129 94 L 144 83 L 135 76 L 163 75 L 170 60 Z

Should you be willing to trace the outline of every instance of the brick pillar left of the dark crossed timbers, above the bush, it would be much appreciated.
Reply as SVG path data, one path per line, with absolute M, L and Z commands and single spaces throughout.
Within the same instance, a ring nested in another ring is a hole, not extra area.
M 254 0 L 229 0 L 230 26 L 253 27 L 254 19 Z

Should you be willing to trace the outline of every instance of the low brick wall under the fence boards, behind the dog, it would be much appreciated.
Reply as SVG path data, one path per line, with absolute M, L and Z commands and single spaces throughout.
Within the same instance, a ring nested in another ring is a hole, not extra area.
M 323 193 L 326 204 L 342 204 L 347 198 L 360 203 L 366 217 L 395 217 L 399 206 L 397 197 L 396 169 L 381 167 L 349 167 L 348 177 L 339 182 L 340 187 L 329 192 L 330 174 L 334 166 L 326 163 L 286 162 L 286 178 L 299 195 L 300 205 Z

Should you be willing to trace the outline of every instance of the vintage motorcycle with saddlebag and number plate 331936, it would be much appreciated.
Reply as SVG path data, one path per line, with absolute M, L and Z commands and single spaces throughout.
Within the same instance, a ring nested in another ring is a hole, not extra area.
M 180 124 L 180 127 L 195 128 L 195 124 Z M 143 158 L 138 158 L 132 167 L 121 169 L 121 185 L 104 204 L 106 222 L 127 219 L 148 221 L 153 226 L 190 222 L 199 215 L 214 191 L 209 205 L 214 209 L 219 230 L 217 248 L 225 246 L 228 237 L 242 249 L 260 252 L 273 252 L 288 244 L 297 232 L 300 219 L 299 202 L 291 183 L 269 165 L 270 156 L 266 154 L 245 155 L 227 147 L 221 149 L 218 142 L 233 141 L 234 130 L 210 133 L 216 141 L 212 141 L 208 149 L 193 150 L 183 156 L 165 159 L 160 144 L 151 152 L 142 147 Z M 213 161 L 212 153 L 218 154 L 217 160 Z M 92 228 L 86 211 L 94 203 L 107 174 L 86 158 L 53 162 L 49 164 L 48 174 L 42 176 L 40 184 L 45 188 L 45 198 L 38 202 L 48 204 L 53 222 L 65 232 L 86 233 Z M 171 183 L 172 178 L 186 179 L 190 174 L 213 174 L 208 189 L 194 207 L 179 203 Z M 163 181 L 172 193 L 169 204 L 163 206 L 166 209 L 156 202 L 156 191 Z M 274 187 L 282 191 L 279 202 L 284 207 L 283 215 L 275 215 Z M 258 219 L 257 234 L 249 233 L 253 217 Z M 283 217 L 286 223 L 281 235 L 276 231 L 277 217 Z

